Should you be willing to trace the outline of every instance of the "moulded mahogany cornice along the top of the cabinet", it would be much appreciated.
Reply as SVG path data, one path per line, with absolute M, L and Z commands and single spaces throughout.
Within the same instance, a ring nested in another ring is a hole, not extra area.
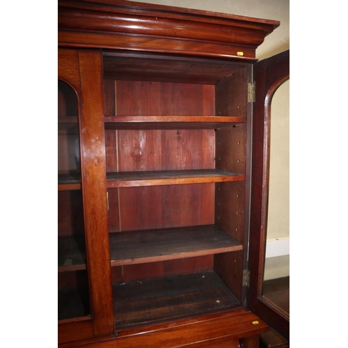
M 133 1 L 58 1 L 61 47 L 130 49 L 252 62 L 256 47 L 277 26 L 277 21 Z

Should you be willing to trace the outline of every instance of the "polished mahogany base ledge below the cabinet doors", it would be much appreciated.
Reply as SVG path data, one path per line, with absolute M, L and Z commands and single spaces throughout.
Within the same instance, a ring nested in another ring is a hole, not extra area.
M 255 342 L 258 342 L 260 333 L 268 330 L 269 326 L 258 316 L 241 308 L 196 319 L 120 331 L 112 339 L 76 342 L 60 347 L 239 347 L 239 340 L 243 340 L 244 348 L 251 348 L 258 347 Z

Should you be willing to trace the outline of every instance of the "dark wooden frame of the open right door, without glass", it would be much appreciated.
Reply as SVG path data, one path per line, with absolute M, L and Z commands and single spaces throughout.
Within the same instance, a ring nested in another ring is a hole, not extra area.
M 251 175 L 251 232 L 249 250 L 249 307 L 289 340 L 290 315 L 262 296 L 269 204 L 271 100 L 290 78 L 290 50 L 253 65 L 253 159 Z

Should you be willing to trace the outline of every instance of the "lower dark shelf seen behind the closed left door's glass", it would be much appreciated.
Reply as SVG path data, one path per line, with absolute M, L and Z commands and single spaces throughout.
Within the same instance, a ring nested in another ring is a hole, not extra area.
M 58 237 L 58 272 L 86 269 L 84 235 Z

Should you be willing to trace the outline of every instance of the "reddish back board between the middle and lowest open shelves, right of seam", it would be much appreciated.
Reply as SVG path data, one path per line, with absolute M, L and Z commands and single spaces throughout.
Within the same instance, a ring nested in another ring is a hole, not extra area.
M 119 191 L 122 231 L 214 223 L 214 184 L 128 187 Z

